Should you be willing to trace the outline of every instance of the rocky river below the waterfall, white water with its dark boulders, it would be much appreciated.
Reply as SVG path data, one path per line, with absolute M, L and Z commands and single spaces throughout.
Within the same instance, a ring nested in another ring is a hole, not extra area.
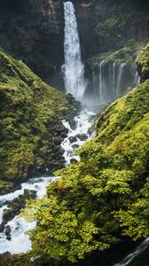
M 68 121 L 62 121 L 67 134 L 60 147 L 66 165 L 79 160 L 79 156 L 73 153 L 84 143 L 86 138 L 91 137 L 88 129 L 91 126 L 93 115 L 94 113 L 91 111 L 82 111 L 74 119 L 75 129 L 71 129 Z M 28 180 L 27 183 L 21 184 L 20 190 L 0 196 L 0 253 L 9 251 L 11 254 L 20 254 L 31 248 L 31 243 L 25 232 L 33 229 L 35 222 L 27 223 L 18 216 L 20 208 L 25 207 L 27 199 L 42 198 L 46 192 L 46 185 L 56 178 L 59 176 L 35 177 Z

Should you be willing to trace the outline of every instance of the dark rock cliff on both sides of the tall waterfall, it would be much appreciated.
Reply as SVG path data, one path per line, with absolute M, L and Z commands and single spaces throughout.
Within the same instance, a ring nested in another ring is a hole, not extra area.
M 129 39 L 148 38 L 147 1 L 74 0 L 82 56 L 121 48 Z M 46 82 L 64 61 L 63 1 L 2 0 L 0 45 L 30 66 Z

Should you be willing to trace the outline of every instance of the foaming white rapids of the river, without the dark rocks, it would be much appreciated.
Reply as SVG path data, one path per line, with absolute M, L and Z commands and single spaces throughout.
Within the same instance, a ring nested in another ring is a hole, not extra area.
M 88 134 L 88 129 L 91 126 L 92 116 L 95 113 L 92 113 L 88 110 L 82 111 L 78 116 L 75 117 L 75 129 L 71 129 L 67 121 L 62 121 L 64 126 L 68 129 L 67 137 L 61 144 L 61 147 L 64 149 L 64 157 L 66 164 L 70 163 L 71 159 L 79 160 L 78 156 L 73 155 L 75 151 L 75 146 L 81 146 L 85 140 L 81 140 L 82 134 L 86 135 L 86 138 L 90 138 Z M 75 137 L 74 141 L 70 142 L 70 137 Z M 5 194 L 0 196 L 0 223 L 3 220 L 4 209 L 7 208 L 4 205 L 6 200 L 12 201 L 14 198 L 22 195 L 24 190 L 34 190 L 37 192 L 37 198 L 42 198 L 46 193 L 46 186 L 54 181 L 59 176 L 49 176 L 49 177 L 35 177 L 29 179 L 27 183 L 21 184 L 20 190 L 17 190 L 12 193 Z M 0 254 L 8 251 L 11 254 L 20 254 L 26 253 L 31 249 L 31 242 L 28 239 L 26 231 L 32 230 L 35 227 L 34 223 L 27 223 L 23 218 L 16 215 L 12 221 L 5 224 L 5 226 L 10 225 L 11 231 L 11 240 L 6 239 L 5 230 L 0 233 Z

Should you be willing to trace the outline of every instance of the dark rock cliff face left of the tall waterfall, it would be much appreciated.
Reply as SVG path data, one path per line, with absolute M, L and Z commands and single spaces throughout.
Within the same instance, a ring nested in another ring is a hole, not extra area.
M 44 79 L 63 61 L 63 16 L 60 1 L 2 1 L 1 45 Z

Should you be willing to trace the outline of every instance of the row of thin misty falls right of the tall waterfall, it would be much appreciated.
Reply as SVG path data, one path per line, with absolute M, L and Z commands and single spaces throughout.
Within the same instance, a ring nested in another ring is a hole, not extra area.
M 98 105 L 107 105 L 137 86 L 140 80 L 134 66 L 126 62 L 119 64 L 102 60 L 92 68 L 92 92 Z

